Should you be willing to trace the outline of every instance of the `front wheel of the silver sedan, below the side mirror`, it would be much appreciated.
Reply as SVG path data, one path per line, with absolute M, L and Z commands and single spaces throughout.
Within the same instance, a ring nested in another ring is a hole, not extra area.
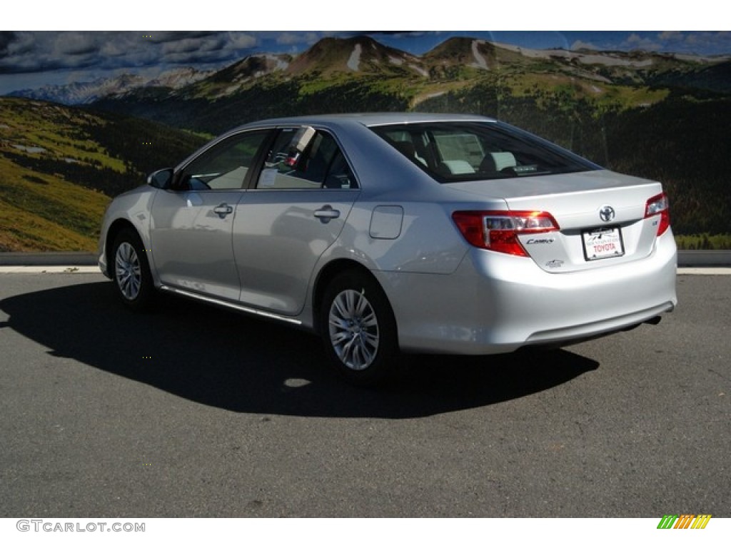
M 119 298 L 128 308 L 144 311 L 154 300 L 150 263 L 142 241 L 133 229 L 125 228 L 112 247 L 113 281 Z

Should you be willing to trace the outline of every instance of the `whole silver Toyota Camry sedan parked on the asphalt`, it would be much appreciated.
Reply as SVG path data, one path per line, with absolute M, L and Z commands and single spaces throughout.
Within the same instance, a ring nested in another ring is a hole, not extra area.
M 115 198 L 99 266 L 318 333 L 348 381 L 399 351 L 496 354 L 656 323 L 676 249 L 660 183 L 505 123 L 419 113 L 241 126 Z

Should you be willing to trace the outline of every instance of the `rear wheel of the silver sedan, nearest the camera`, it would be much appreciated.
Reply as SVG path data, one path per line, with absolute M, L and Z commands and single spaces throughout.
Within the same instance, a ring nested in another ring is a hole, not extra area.
M 333 278 L 320 314 L 325 353 L 341 377 L 371 387 L 396 376 L 396 321 L 386 295 L 370 275 L 349 270 Z

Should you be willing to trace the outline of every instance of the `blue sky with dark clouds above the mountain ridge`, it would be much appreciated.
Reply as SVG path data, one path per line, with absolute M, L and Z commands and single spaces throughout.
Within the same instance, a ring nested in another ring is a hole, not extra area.
M 323 37 L 355 34 L 417 55 L 449 37 L 469 36 L 537 49 L 731 56 L 731 31 L 0 31 L 0 94 L 121 72 L 219 68 L 252 53 L 300 53 Z

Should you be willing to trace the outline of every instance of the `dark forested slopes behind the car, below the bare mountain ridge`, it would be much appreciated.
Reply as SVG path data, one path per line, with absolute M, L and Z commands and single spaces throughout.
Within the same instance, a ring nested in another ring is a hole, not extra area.
M 687 85 L 692 77 L 683 74 Z M 609 169 L 660 180 L 677 234 L 731 233 L 731 97 L 707 89 L 602 82 L 567 74 L 562 65 L 539 72 L 509 66 L 454 80 L 270 75 L 215 100 L 178 94 L 99 106 L 213 134 L 259 118 L 357 110 L 493 116 Z

